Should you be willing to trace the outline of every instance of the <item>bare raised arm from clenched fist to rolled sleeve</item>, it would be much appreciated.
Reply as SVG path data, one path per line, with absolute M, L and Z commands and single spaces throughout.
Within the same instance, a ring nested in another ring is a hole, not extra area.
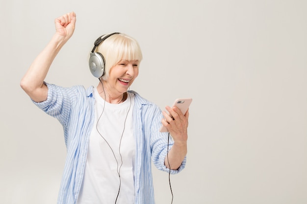
M 51 63 L 75 30 L 76 14 L 65 14 L 54 21 L 55 34 L 43 51 L 35 58 L 20 82 L 20 86 L 36 102 L 47 99 L 48 88 L 44 84 Z

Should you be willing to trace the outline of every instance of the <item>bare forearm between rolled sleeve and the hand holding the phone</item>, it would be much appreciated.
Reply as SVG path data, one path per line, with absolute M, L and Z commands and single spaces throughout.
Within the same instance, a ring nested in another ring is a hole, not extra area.
M 186 142 L 175 142 L 165 157 L 165 165 L 169 169 L 177 170 L 187 154 L 187 143 Z

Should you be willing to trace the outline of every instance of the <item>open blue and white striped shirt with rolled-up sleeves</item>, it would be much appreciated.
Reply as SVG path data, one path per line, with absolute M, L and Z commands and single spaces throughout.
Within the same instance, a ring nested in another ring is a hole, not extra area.
M 94 87 L 63 88 L 48 86 L 46 101 L 36 103 L 40 109 L 58 119 L 64 130 L 67 157 L 60 185 L 57 204 L 76 204 L 81 187 L 90 132 L 95 119 Z M 163 117 L 161 110 L 152 102 L 135 94 L 133 107 L 133 131 L 135 135 L 134 189 L 135 204 L 154 204 L 151 161 L 157 169 L 169 172 L 164 165 L 167 155 L 167 133 L 160 133 Z M 172 146 L 170 142 L 170 148 Z M 178 170 L 185 166 L 184 159 Z

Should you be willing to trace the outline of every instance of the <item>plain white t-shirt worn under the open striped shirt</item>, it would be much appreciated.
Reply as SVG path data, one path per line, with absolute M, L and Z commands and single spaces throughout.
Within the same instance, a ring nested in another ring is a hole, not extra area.
M 120 104 L 104 102 L 97 89 L 94 97 L 95 123 L 77 204 L 115 204 L 119 187 L 116 204 L 134 204 L 134 94 L 128 93 L 126 101 Z

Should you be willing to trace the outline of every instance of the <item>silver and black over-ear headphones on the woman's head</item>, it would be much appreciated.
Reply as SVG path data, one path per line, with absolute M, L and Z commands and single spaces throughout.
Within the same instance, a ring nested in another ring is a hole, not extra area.
M 94 47 L 92 49 L 92 52 L 90 54 L 90 59 L 88 62 L 88 65 L 90 67 L 91 73 L 97 77 L 100 78 L 104 75 L 104 66 L 105 66 L 105 60 L 100 52 L 95 52 L 95 49 L 98 45 L 100 45 L 105 39 L 108 37 L 114 35 L 114 34 L 120 34 L 120 33 L 111 33 L 108 35 L 102 35 L 100 36 L 95 42 L 94 42 Z M 104 36 L 104 37 L 103 37 Z M 102 38 L 103 37 L 103 38 Z

